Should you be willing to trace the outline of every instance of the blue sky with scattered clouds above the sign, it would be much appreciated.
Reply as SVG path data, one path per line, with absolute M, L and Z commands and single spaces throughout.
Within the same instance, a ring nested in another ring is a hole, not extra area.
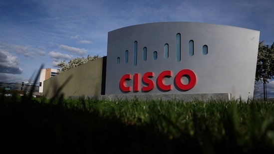
M 260 40 L 271 45 L 273 6 L 274 0 L 1 0 L 0 82 L 26 82 L 41 64 L 105 56 L 109 31 L 142 23 L 244 27 L 261 31 Z

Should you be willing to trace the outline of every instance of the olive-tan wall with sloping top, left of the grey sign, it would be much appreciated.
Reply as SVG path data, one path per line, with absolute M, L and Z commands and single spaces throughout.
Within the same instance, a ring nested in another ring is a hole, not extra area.
M 96 96 L 104 93 L 106 57 L 82 64 L 44 81 L 43 96 Z M 102 83 L 103 80 L 103 83 Z M 60 91 L 58 91 L 60 90 Z M 103 92 L 102 92 L 103 91 Z

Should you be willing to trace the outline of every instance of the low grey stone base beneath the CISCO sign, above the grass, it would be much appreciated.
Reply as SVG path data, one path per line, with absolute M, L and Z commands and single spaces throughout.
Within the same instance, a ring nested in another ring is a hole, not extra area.
M 86 97 L 87 98 L 87 97 Z M 90 97 L 89 97 L 90 98 Z M 210 101 L 210 100 L 223 100 L 230 101 L 230 93 L 212 93 L 212 94 L 145 94 L 145 95 L 101 95 L 96 97 L 104 100 L 131 100 L 138 99 L 146 100 L 163 100 L 163 101 L 184 101 L 192 102 L 194 100 Z

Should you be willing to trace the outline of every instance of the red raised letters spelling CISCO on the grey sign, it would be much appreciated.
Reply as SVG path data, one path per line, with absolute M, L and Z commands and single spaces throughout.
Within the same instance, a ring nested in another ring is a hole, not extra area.
M 172 85 L 165 85 L 164 84 L 164 78 L 170 78 L 173 75 L 172 71 L 170 70 L 166 70 L 163 71 L 159 74 L 158 78 L 157 78 L 157 85 L 159 86 L 159 88 L 161 90 L 164 91 L 170 91 L 172 90 Z M 184 84 L 182 83 L 182 77 L 183 76 L 189 76 L 190 78 L 190 82 L 188 84 Z M 148 92 L 151 91 L 152 89 L 154 89 L 155 84 L 154 81 L 151 79 L 152 77 L 154 77 L 154 73 L 153 72 L 146 72 L 143 77 L 142 80 L 145 84 L 147 84 L 147 86 L 143 86 L 142 87 L 142 91 Z M 123 92 L 130 92 L 132 91 L 132 87 L 131 86 L 126 86 L 126 81 L 131 80 L 132 79 L 132 75 L 131 74 L 125 74 L 122 76 L 121 80 L 120 80 L 120 88 Z M 134 91 L 140 91 L 140 74 L 139 73 L 135 73 L 134 74 L 134 81 L 133 81 L 133 86 L 134 86 Z M 190 90 L 192 89 L 195 85 L 196 85 L 196 75 L 195 73 L 190 70 L 190 69 L 184 69 L 181 70 L 177 73 L 177 75 L 175 76 L 175 84 L 176 86 L 181 89 L 181 90 Z

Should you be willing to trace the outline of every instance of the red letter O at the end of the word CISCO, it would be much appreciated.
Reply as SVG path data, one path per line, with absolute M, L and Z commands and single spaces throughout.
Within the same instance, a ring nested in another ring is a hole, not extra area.
M 185 75 L 190 77 L 190 82 L 188 84 L 183 84 L 181 82 L 181 78 Z M 191 88 L 193 88 L 196 85 L 196 75 L 190 69 L 183 69 L 177 73 L 177 75 L 175 77 L 175 83 L 176 83 L 177 87 L 181 90 L 190 90 Z

